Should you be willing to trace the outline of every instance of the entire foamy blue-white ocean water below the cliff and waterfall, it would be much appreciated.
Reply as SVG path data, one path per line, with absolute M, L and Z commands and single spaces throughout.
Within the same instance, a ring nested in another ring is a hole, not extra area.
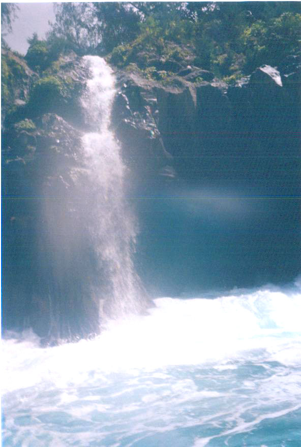
M 301 288 L 158 298 L 100 336 L 6 334 L 4 447 L 298 447 Z

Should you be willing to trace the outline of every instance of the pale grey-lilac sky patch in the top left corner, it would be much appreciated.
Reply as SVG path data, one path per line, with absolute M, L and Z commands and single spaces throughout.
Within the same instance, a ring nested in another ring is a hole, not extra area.
M 45 38 L 49 29 L 48 21 L 54 21 L 53 3 L 18 3 L 19 11 L 13 21 L 13 32 L 5 37 L 12 50 L 25 54 L 28 48 L 27 38 L 37 33 Z

